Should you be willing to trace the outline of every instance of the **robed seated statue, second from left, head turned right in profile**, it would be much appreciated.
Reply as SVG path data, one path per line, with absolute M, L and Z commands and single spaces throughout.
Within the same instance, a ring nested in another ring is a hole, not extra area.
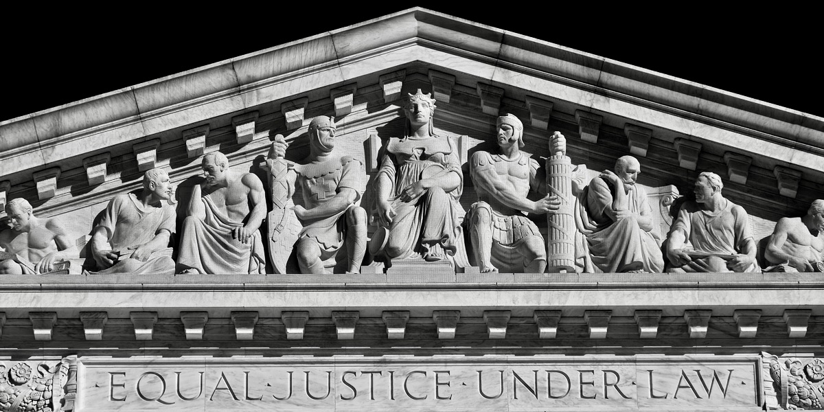
M 111 199 L 91 236 L 96 269 L 105 274 L 175 274 L 167 247 L 177 216 L 171 194 L 169 175 L 155 168 L 143 175 L 140 194 Z

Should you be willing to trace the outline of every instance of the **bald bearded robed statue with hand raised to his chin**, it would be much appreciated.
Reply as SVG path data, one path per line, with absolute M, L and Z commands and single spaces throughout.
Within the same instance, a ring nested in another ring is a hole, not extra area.
M 586 235 L 592 263 L 604 273 L 661 273 L 664 268 L 647 193 L 635 180 L 641 165 L 620 157 L 615 171 L 589 182 L 586 208 L 592 231 Z

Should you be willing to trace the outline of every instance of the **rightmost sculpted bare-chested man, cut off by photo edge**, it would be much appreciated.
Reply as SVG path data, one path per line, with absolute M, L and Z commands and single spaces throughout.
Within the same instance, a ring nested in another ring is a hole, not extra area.
M 781 218 L 764 257 L 765 272 L 816 271 L 824 257 L 824 200 L 814 200 L 803 218 Z

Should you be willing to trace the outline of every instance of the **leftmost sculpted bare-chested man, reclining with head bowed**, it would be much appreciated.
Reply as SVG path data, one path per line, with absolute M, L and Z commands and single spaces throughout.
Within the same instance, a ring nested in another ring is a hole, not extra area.
M 0 232 L 0 247 L 13 259 L 0 261 L 0 274 L 40 274 L 60 260 L 77 257 L 77 248 L 55 218 L 37 218 L 26 199 L 6 204 L 10 229 Z

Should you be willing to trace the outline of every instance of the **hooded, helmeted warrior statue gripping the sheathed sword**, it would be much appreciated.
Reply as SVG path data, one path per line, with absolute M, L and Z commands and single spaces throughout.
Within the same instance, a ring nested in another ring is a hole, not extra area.
M 285 155 L 283 137 L 275 138 L 272 147 L 276 159 Z M 344 244 L 346 273 L 358 274 L 366 254 L 367 214 L 356 204 L 365 178 L 363 164 L 349 155 L 340 156 L 334 148 L 335 120 L 318 116 L 309 124 L 308 162 L 289 166 L 288 197 L 294 194 L 296 177 L 303 194 L 304 205 L 293 208 L 303 227 L 296 245 L 303 274 L 329 273 L 324 262 L 335 258 Z

